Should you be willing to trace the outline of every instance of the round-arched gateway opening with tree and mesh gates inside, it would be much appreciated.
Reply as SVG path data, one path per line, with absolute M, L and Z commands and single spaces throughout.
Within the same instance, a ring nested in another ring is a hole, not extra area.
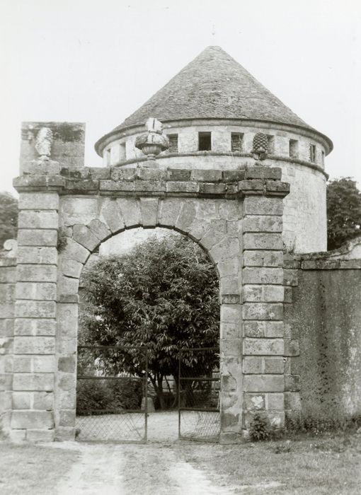
M 219 282 L 207 253 L 134 228 L 88 258 L 79 289 L 79 439 L 219 435 Z

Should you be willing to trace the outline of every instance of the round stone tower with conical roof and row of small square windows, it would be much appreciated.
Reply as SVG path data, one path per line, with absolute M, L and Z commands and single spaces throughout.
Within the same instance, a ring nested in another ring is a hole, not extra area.
M 326 250 L 324 158 L 333 148 L 331 139 L 301 120 L 222 48 L 207 47 L 139 110 L 99 139 L 96 152 L 105 165 L 147 165 L 135 140 L 144 134 L 149 117 L 163 122 L 170 142 L 168 150 L 156 158 L 161 168 L 252 166 L 253 137 L 258 132 L 266 134 L 268 155 L 263 164 L 282 168 L 282 180 L 291 187 L 284 200 L 287 249 Z

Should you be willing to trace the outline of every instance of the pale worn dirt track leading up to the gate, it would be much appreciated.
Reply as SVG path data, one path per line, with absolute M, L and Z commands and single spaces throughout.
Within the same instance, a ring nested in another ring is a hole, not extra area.
M 189 462 L 178 443 L 69 443 L 81 458 L 56 487 L 57 495 L 229 495 Z

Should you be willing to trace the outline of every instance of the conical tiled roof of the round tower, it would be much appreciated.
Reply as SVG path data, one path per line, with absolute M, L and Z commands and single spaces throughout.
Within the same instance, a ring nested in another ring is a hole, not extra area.
M 182 119 L 263 120 L 312 129 L 220 47 L 207 47 L 113 132 Z M 312 129 L 314 130 L 314 129 Z

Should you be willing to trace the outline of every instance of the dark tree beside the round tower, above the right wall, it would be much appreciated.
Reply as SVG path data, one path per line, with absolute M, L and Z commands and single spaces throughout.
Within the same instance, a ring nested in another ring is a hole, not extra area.
M 352 177 L 331 180 L 327 185 L 327 248 L 339 248 L 361 234 L 361 192 Z

